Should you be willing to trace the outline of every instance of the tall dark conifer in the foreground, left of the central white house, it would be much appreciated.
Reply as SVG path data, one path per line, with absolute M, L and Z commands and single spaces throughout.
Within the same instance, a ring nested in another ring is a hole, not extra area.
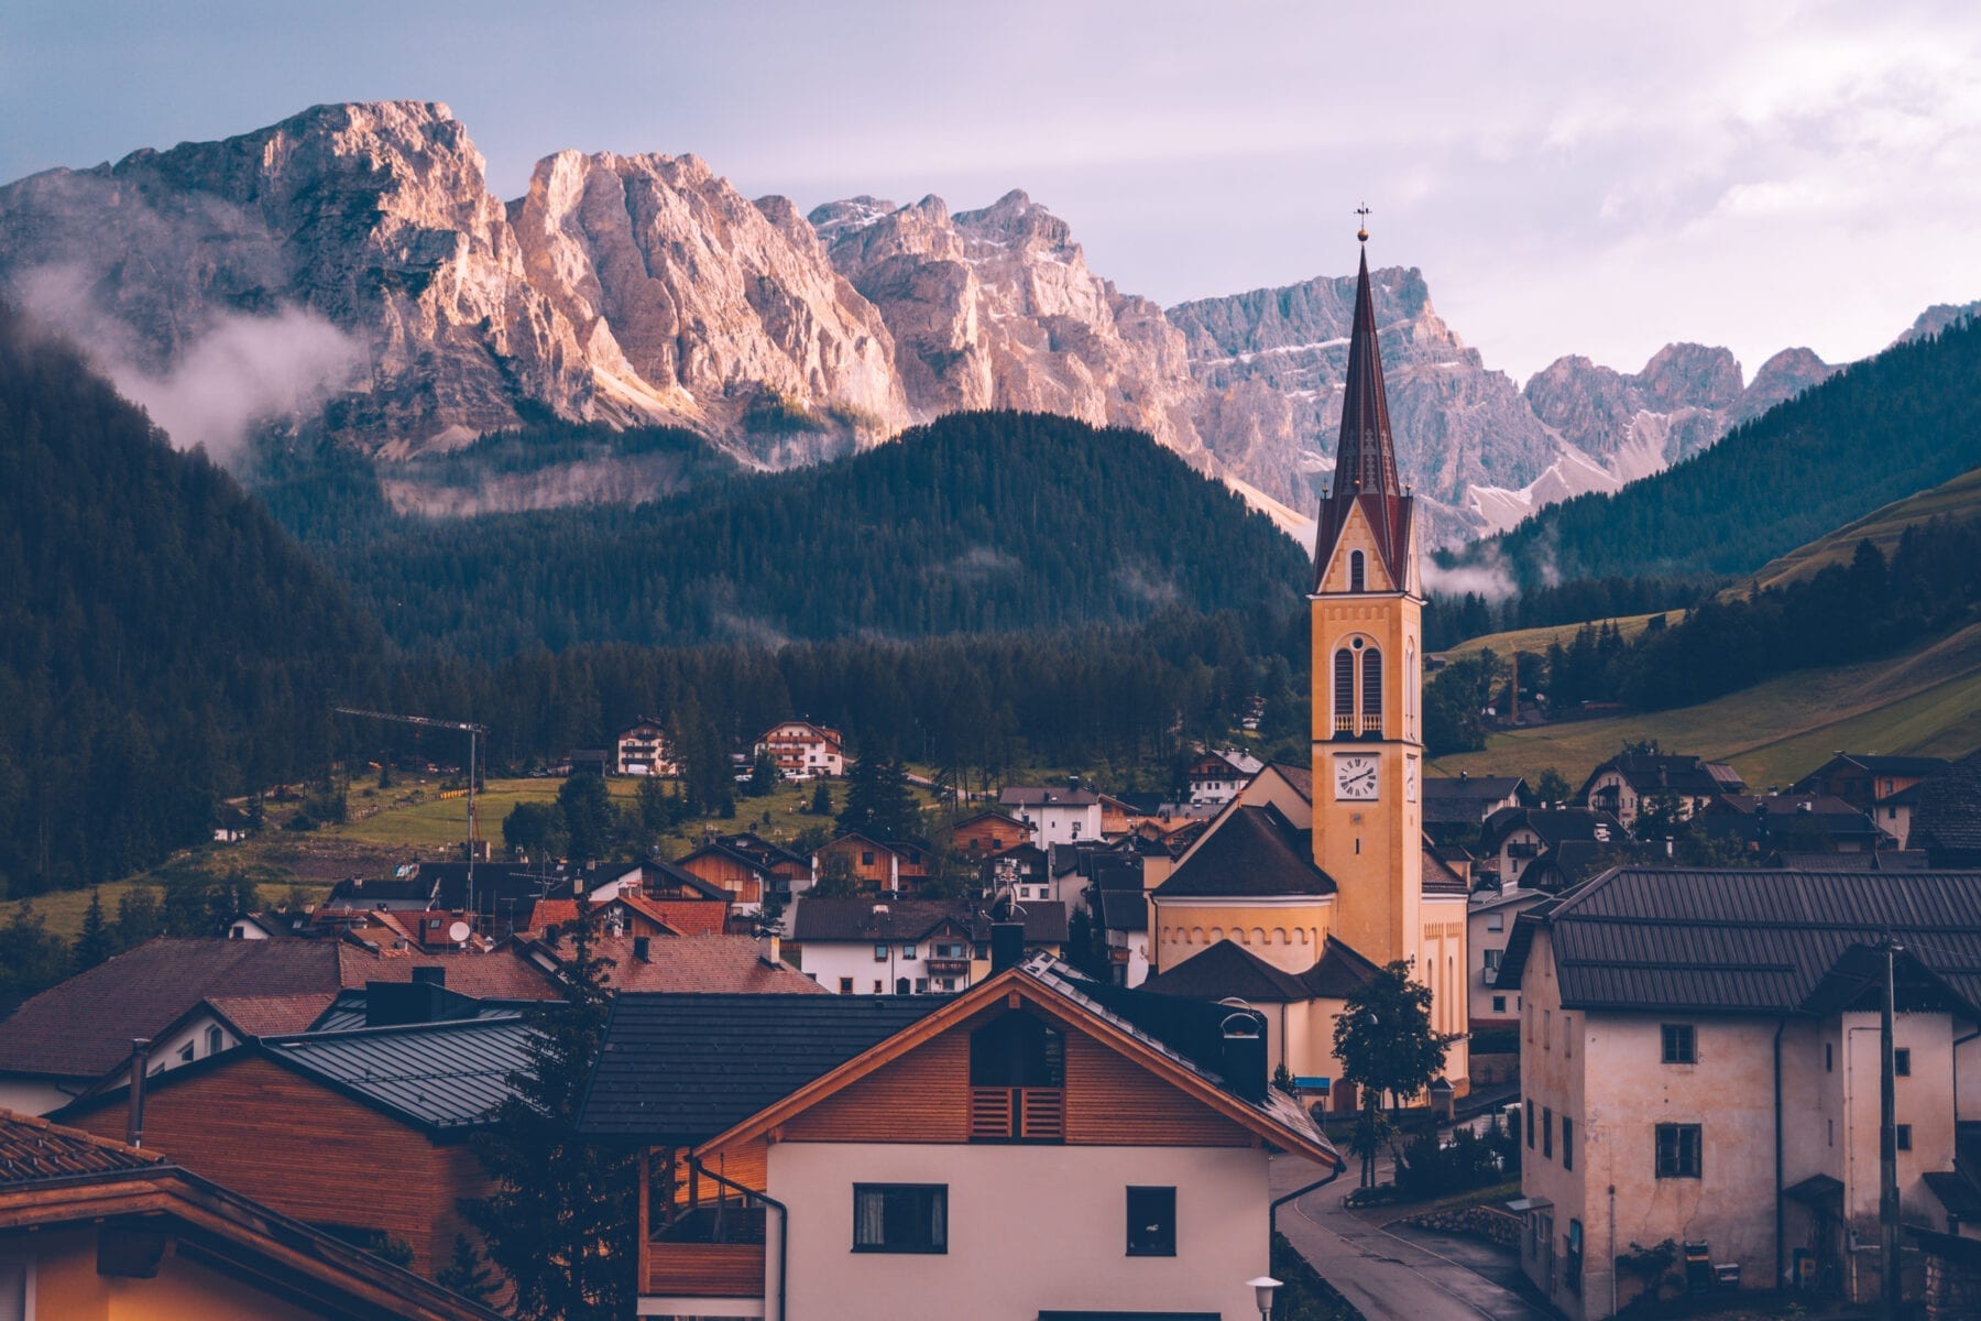
M 606 1321 L 636 1299 L 638 1174 L 630 1151 L 576 1131 L 578 1105 L 604 1044 L 612 959 L 594 951 L 598 913 L 578 897 L 563 1002 L 535 1018 L 529 1067 L 475 1151 L 495 1192 L 468 1202 L 489 1260 L 515 1283 L 527 1321 Z

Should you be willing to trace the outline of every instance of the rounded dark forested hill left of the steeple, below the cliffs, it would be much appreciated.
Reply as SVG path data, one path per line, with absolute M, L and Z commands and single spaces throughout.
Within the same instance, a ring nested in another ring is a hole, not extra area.
M 406 648 L 501 658 L 600 642 L 915 638 L 1292 610 L 1300 549 L 1147 436 L 957 414 L 822 467 L 685 495 L 388 517 L 363 473 L 267 497 Z

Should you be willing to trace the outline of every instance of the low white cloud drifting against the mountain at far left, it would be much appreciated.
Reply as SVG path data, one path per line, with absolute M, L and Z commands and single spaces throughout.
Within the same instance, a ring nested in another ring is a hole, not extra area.
M 365 347 L 321 313 L 220 313 L 176 358 L 155 368 L 139 331 L 97 305 L 81 267 L 44 267 L 18 285 L 42 325 L 71 339 L 117 390 L 145 408 L 180 450 L 204 446 L 230 463 L 252 430 L 305 418 L 349 388 Z

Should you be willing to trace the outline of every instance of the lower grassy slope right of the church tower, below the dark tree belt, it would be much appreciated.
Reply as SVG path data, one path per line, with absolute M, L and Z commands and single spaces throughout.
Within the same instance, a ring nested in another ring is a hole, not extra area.
M 1498 733 L 1484 753 L 1432 764 L 1525 776 L 1555 766 L 1579 782 L 1626 739 L 1731 761 L 1757 786 L 1785 786 L 1836 749 L 1961 755 L 1981 747 L 1981 624 L 1906 656 L 1789 673 L 1696 707 Z

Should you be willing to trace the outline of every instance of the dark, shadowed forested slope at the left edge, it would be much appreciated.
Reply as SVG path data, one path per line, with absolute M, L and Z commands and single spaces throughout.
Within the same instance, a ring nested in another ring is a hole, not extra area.
M 123 875 L 321 764 L 378 646 L 232 477 L 0 307 L 0 879 Z

